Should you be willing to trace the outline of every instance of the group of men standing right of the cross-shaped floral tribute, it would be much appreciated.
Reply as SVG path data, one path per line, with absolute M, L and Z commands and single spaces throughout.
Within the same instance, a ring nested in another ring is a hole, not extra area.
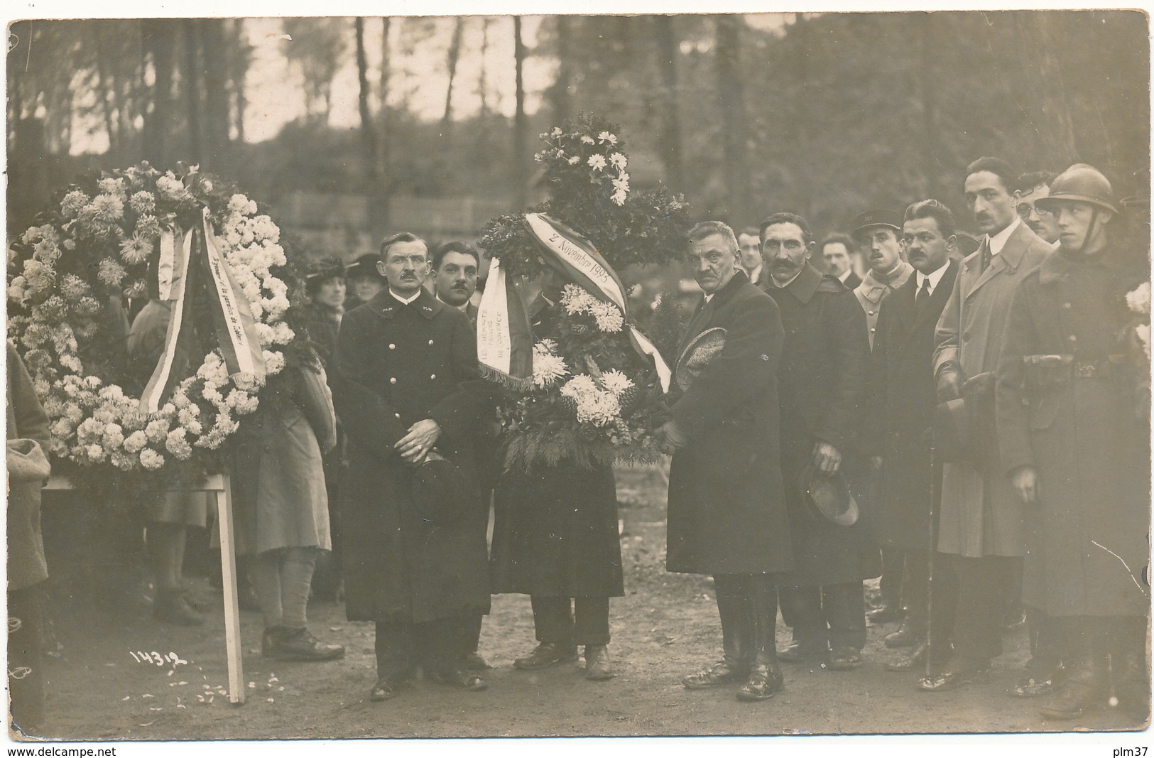
M 1019 177 L 981 158 L 964 190 L 983 233 L 965 257 L 932 198 L 820 247 L 788 212 L 756 250 L 751 231 L 690 232 L 705 295 L 679 363 L 726 336 L 661 430 L 668 568 L 713 575 L 724 656 L 687 688 L 764 699 L 779 661 L 859 667 L 862 580 L 883 575 L 870 616 L 901 620 L 886 667 L 919 690 L 987 681 L 1025 602 L 1033 658 L 1010 695 L 1047 696 L 1049 719 L 1147 718 L 1149 366 L 1126 300 L 1149 278 L 1148 219 L 1127 234 L 1085 164 Z M 854 248 L 868 269 L 848 286 Z M 774 599 L 793 630 L 777 655 Z

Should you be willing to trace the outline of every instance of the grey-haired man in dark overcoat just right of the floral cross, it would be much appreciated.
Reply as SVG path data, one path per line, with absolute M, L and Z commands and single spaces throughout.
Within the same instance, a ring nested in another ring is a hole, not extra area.
M 722 660 L 682 683 L 740 684 L 740 699 L 762 700 L 782 683 L 773 575 L 793 565 L 778 448 L 782 331 L 773 300 L 736 269 L 737 249 L 719 222 L 689 233 L 705 297 L 681 340 L 673 418 L 658 438 L 674 451 L 666 565 L 713 575 L 721 617 Z

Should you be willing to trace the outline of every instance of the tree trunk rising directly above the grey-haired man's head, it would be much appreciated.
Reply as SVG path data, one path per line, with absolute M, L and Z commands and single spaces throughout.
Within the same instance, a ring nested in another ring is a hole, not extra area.
M 749 172 L 744 156 L 748 141 L 745 99 L 742 91 L 740 16 L 714 17 L 717 30 L 717 87 L 721 113 L 721 150 L 725 165 L 726 205 L 732 216 L 748 212 L 750 204 Z M 742 222 L 744 223 L 744 222 Z

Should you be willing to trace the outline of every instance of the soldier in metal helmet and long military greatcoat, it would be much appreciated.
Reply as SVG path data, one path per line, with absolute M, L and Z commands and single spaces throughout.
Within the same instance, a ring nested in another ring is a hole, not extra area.
M 1056 217 L 1059 248 L 1014 293 L 996 397 L 1002 465 L 1037 516 L 1024 599 L 1064 641 L 1066 682 L 1042 714 L 1103 707 L 1112 678 L 1118 705 L 1145 721 L 1148 271 L 1111 245 L 1117 213 L 1097 170 L 1071 166 L 1037 203 Z

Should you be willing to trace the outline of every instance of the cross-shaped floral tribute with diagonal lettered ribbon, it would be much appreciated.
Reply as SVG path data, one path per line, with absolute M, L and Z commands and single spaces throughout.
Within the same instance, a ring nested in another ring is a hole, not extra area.
M 623 295 L 637 268 L 676 258 L 689 211 L 680 195 L 664 188 L 631 192 L 617 133 L 604 119 L 583 115 L 541 134 L 546 147 L 535 159 L 545 167 L 549 200 L 535 212 L 493 219 L 480 240 L 510 280 L 552 271 L 561 283 L 538 301 L 546 307 L 533 314 L 525 381 L 489 372 L 509 388 L 500 408 L 507 468 L 563 459 L 584 466 L 646 461 L 659 455 L 652 435 L 668 416 L 662 386 L 668 375 L 662 377 L 665 365 L 637 331 Z M 565 249 L 576 257 L 567 262 Z M 580 276 L 583 263 L 589 277 Z M 509 299 L 517 299 L 518 288 L 507 288 Z M 482 324 L 485 308 L 482 300 Z M 510 312 L 516 331 L 516 308 Z M 509 362 L 516 363 L 515 340 L 510 352 Z

